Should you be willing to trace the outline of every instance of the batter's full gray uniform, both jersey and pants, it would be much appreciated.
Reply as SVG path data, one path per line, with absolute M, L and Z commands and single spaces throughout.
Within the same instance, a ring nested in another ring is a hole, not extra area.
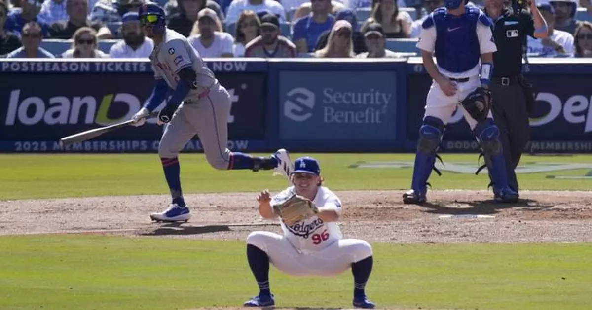
M 172 89 L 176 89 L 177 73 L 184 67 L 191 66 L 197 74 L 197 89 L 189 91 L 166 125 L 160 139 L 159 156 L 177 157 L 185 144 L 197 134 L 208 163 L 215 169 L 226 170 L 230 160 L 230 150 L 226 146 L 231 108 L 226 88 L 218 83 L 214 73 L 187 39 L 173 30 L 166 29 L 162 43 L 150 54 L 150 62 L 155 78 L 165 79 Z

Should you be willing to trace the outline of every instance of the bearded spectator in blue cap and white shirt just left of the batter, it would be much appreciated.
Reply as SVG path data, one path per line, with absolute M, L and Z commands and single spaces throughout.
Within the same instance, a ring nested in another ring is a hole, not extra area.
M 140 28 L 140 17 L 137 12 L 127 12 L 123 15 L 121 24 L 123 41 L 111 46 L 111 58 L 148 58 L 154 49 L 154 41 L 144 36 Z

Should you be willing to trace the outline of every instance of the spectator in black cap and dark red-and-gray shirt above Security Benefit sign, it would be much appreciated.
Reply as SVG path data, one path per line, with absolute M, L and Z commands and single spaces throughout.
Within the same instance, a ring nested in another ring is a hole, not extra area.
M 261 35 L 250 41 L 244 57 L 292 58 L 296 57 L 296 46 L 281 35 L 279 19 L 267 14 L 261 19 Z

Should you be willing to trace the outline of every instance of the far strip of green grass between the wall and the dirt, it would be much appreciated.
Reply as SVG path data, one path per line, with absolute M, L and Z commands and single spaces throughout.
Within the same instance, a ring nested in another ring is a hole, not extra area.
M 265 154 L 262 154 L 265 155 Z M 293 159 L 303 154 L 292 154 Z M 332 189 L 406 189 L 410 185 L 411 168 L 353 169 L 357 162 L 407 161 L 413 154 L 310 154 L 320 160 L 326 184 Z M 476 154 L 442 154 L 446 162 L 469 162 L 477 165 Z M 282 189 L 280 177 L 270 172 L 246 170 L 220 172 L 205 162 L 203 154 L 182 154 L 181 181 L 184 192 L 244 192 L 262 188 Z M 55 198 L 106 195 L 138 195 L 168 193 L 162 166 L 155 154 L 112 155 L 0 155 L 0 200 L 22 198 Z M 527 162 L 591 163 L 592 156 L 524 156 Z M 589 170 L 571 170 L 563 175 L 583 176 Z M 433 189 L 483 189 L 487 175 L 435 173 L 430 179 Z M 553 173 L 519 175 L 523 189 L 592 188 L 592 179 L 546 179 Z

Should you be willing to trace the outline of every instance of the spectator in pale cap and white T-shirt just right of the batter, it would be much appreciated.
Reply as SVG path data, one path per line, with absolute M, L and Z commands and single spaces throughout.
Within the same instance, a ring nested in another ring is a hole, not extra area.
M 221 22 L 213 9 L 202 9 L 197 14 L 197 34 L 189 36 L 189 44 L 201 57 L 233 57 L 234 38 L 221 29 Z

